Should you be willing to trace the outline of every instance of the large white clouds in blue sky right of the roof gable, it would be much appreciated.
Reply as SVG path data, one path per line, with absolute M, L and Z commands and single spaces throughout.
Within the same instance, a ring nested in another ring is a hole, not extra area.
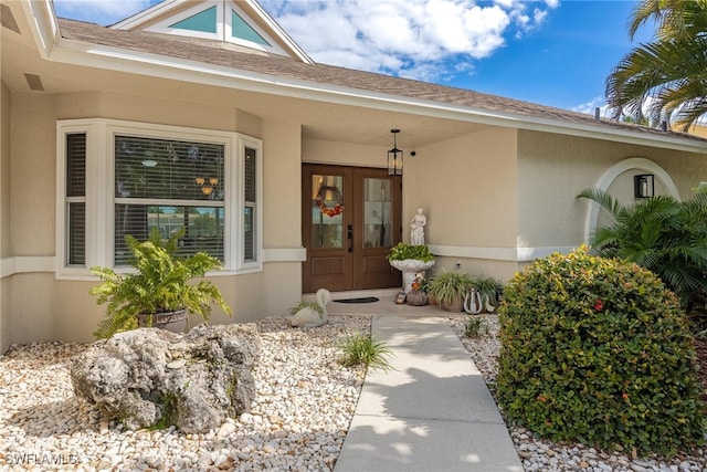
M 559 4 L 546 0 L 527 11 L 521 0 L 260 2 L 319 63 L 431 82 L 473 70 L 474 61 L 538 28 Z

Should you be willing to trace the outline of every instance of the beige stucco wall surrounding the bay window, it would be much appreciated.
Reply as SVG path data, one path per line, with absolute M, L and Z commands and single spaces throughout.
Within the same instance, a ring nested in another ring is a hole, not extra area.
M 87 92 L 17 94 L 13 97 L 12 159 L 8 165 L 3 153 L 2 161 L 2 179 L 6 179 L 4 170 L 9 167 L 12 181 L 23 182 L 10 191 L 12 212 L 9 224 L 2 228 L 3 240 L 9 235 L 9 251 L 13 255 L 54 255 L 56 120 L 87 117 L 231 130 L 263 139 L 264 250 L 302 247 L 300 179 L 297 177 L 302 143 L 298 124 L 263 122 L 236 108 Z M 2 130 L 4 137 L 6 128 Z M 3 206 L 4 201 L 3 193 Z M 296 230 L 283 231 L 283 228 Z M 214 323 L 246 322 L 282 314 L 302 294 L 302 269 L 296 261 L 265 261 L 263 272 L 219 275 L 213 281 L 234 312 L 229 318 L 214 308 Z M 3 316 L 11 313 L 12 316 L 0 325 L 0 342 L 8 339 L 0 348 L 4 350 L 9 340 L 92 340 L 96 323 L 104 313 L 104 307 L 96 306 L 95 298 L 88 295 L 94 284 L 91 281 L 57 281 L 53 272 L 17 273 L 4 277 L 1 287 L 8 287 L 13 296 L 10 301 L 3 297 L 2 313 Z

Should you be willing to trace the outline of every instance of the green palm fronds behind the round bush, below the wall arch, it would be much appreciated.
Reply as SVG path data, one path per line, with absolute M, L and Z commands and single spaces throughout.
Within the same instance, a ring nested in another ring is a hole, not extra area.
M 585 189 L 578 198 L 598 203 L 612 220 L 597 229 L 594 254 L 653 271 L 688 311 L 707 294 L 707 193 L 684 202 L 658 196 L 630 207 L 600 189 Z

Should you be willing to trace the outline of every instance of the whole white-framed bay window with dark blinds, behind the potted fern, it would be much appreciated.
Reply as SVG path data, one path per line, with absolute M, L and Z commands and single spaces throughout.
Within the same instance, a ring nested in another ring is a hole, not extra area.
M 261 143 L 109 119 L 57 123 L 57 274 L 128 265 L 125 237 L 179 237 L 231 272 L 261 269 Z

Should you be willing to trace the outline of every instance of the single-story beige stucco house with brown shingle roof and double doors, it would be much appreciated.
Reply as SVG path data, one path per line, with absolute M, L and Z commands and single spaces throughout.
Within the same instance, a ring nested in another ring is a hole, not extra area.
M 580 190 L 632 201 L 650 177 L 686 199 L 707 175 L 703 138 L 317 64 L 254 0 L 110 28 L 0 8 L 0 352 L 93 339 L 88 268 L 125 264 L 128 233 L 186 227 L 245 322 L 321 286 L 399 287 L 384 255 L 418 208 L 436 270 L 508 279 L 588 239 Z

